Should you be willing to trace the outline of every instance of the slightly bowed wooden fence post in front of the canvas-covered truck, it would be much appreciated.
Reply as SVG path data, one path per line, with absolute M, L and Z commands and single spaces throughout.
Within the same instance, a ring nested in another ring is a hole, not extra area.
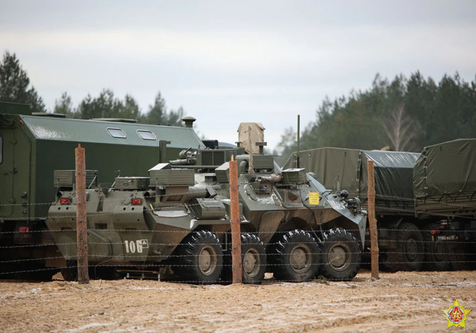
M 371 276 L 378 277 L 378 240 L 377 240 L 377 220 L 375 219 L 375 176 L 373 172 L 373 161 L 367 161 L 367 203 L 368 203 L 368 224 L 370 227 L 370 258 Z

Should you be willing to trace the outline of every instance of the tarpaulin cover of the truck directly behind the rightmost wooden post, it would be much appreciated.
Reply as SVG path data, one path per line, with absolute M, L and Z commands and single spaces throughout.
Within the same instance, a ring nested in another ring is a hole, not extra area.
M 413 202 L 413 167 L 420 154 L 406 152 L 368 151 L 342 148 L 318 148 L 299 154 L 300 167 L 314 172 L 317 180 L 328 189 L 342 190 L 362 200 L 367 198 L 367 160 L 374 161 L 377 210 L 385 206 L 405 209 Z M 283 169 L 292 167 L 296 153 Z M 379 202 L 387 201 L 385 205 Z M 402 204 L 405 202 L 405 204 Z M 406 212 L 401 212 L 405 214 Z M 413 214 L 413 212 L 408 212 Z

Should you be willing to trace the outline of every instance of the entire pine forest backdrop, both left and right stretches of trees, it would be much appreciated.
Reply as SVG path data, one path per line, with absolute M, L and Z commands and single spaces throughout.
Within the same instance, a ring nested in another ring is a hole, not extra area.
M 48 109 L 15 54 L 5 51 L 0 62 L 0 101 L 26 103 L 34 112 L 64 113 L 78 119 L 133 118 L 141 123 L 181 126 L 183 108 L 169 110 L 160 91 L 146 111 L 131 95 L 123 99 L 110 89 L 88 94 L 74 106 L 67 92 Z M 471 82 L 458 72 L 439 81 L 416 70 L 393 79 L 378 73 L 366 90 L 326 98 L 315 119 L 300 133 L 300 149 L 340 147 L 420 152 L 423 147 L 458 138 L 475 137 L 476 76 Z M 206 133 L 205 133 L 206 135 Z M 297 149 L 297 133 L 288 127 L 272 152 L 284 163 Z

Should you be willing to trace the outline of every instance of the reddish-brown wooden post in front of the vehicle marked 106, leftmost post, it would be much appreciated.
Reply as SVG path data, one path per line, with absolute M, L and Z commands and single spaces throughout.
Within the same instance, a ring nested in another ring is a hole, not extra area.
M 78 282 L 89 283 L 88 233 L 86 217 L 86 157 L 81 144 L 76 155 L 76 240 L 78 254 Z

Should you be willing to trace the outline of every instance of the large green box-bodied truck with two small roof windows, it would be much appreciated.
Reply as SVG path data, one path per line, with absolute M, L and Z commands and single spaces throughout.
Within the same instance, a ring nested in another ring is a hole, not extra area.
M 0 260 L 43 258 L 16 262 L 14 269 L 10 262 L 7 271 L 34 271 L 44 267 L 45 257 L 47 264 L 56 257 L 50 253 L 55 247 L 32 244 L 53 243 L 49 233 L 40 232 L 57 192 L 53 171 L 74 168 L 78 143 L 86 149 L 86 167 L 99 170 L 99 181 L 110 184 L 118 174 L 147 176 L 150 166 L 166 161 L 165 155 L 172 159 L 183 149 L 205 148 L 192 128 L 124 121 L 68 119 L 0 102 Z M 89 181 L 97 183 L 97 175 Z

